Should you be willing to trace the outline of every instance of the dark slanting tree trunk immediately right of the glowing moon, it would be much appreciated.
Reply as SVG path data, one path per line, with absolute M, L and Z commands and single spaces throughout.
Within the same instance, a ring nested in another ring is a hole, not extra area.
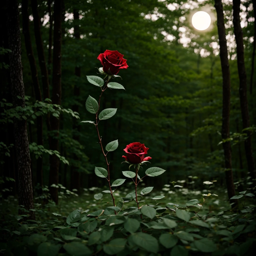
M 221 0 L 215 0 L 215 8 L 217 12 L 217 27 L 219 34 L 219 44 L 220 44 L 220 62 L 222 70 L 222 128 L 221 136 L 222 140 L 227 140 L 229 138 L 229 113 L 230 113 L 230 70 L 228 62 L 228 48 L 226 40 L 226 30 L 224 24 L 223 16 L 223 6 Z M 228 189 L 228 197 L 231 198 L 235 195 L 233 172 L 232 172 L 232 161 L 231 161 L 231 146 L 230 141 L 222 143 L 225 157 L 225 176 L 226 184 Z M 232 207 L 236 206 L 237 200 L 231 200 L 234 202 Z

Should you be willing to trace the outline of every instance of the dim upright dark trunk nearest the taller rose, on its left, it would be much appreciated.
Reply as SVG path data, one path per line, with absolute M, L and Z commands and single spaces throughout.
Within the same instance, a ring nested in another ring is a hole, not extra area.
M 75 40 L 80 39 L 80 32 L 79 32 L 79 13 L 78 10 L 74 9 L 74 36 Z M 81 77 L 81 68 L 80 66 L 75 67 L 75 76 L 77 76 L 76 83 L 74 86 L 74 100 L 78 101 L 80 95 L 80 88 L 77 86 L 79 83 L 79 78 Z M 72 106 L 72 110 L 75 112 L 79 112 L 78 104 L 74 104 Z M 79 141 L 79 132 L 80 132 L 80 125 L 77 122 L 76 118 L 73 118 L 73 139 Z M 78 161 L 78 157 L 76 154 L 73 155 L 74 161 Z M 78 172 L 78 168 L 75 166 L 71 166 L 71 189 L 77 189 L 78 192 L 80 190 L 80 173 Z

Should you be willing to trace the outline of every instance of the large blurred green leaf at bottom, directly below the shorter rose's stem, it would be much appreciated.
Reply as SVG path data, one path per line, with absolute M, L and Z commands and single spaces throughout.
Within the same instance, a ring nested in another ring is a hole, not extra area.
M 150 234 L 138 232 L 132 234 L 129 239 L 135 243 L 138 247 L 145 249 L 149 252 L 158 252 L 158 242 L 155 237 Z

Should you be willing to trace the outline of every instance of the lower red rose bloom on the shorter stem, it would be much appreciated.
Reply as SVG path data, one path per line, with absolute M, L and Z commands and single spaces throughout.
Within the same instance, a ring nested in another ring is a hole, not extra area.
M 148 147 L 145 147 L 144 144 L 140 142 L 133 142 L 126 146 L 124 151 L 127 153 L 127 156 L 122 156 L 125 158 L 126 161 L 130 162 L 131 164 L 140 164 L 142 161 L 148 161 L 152 157 L 147 156 Z

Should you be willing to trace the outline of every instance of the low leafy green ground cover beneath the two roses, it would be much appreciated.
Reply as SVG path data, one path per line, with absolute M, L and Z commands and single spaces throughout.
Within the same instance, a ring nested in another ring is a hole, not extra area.
M 232 210 L 226 191 L 215 188 L 213 182 L 205 182 L 202 190 L 174 183 L 155 190 L 140 182 L 138 209 L 131 185 L 114 192 L 114 207 L 111 196 L 102 192 L 104 188 L 84 189 L 78 196 L 59 184 L 59 206 L 36 199 L 37 221 L 14 215 L 17 199 L 8 197 L 1 204 L 1 252 L 39 256 L 252 255 L 256 225 L 252 189 L 236 196 L 239 209 Z

